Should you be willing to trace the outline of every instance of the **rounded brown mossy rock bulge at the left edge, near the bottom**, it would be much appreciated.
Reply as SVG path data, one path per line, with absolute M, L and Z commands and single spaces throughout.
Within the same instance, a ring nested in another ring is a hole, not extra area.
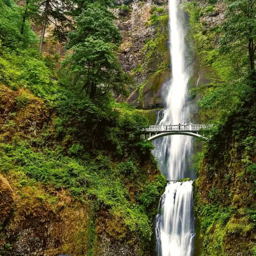
M 0 229 L 4 228 L 14 207 L 14 196 L 8 181 L 0 175 Z

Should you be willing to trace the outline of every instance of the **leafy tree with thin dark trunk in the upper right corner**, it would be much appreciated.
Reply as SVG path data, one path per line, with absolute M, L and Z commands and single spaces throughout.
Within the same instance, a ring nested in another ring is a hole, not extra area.
M 255 80 L 256 1 L 227 0 L 226 21 L 220 44 L 224 51 L 232 52 L 239 68 L 248 67 Z

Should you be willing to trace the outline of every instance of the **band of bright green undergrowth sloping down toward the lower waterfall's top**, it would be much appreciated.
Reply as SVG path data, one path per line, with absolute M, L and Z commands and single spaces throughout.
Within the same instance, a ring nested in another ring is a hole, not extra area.
M 147 177 L 133 161 L 120 162 L 117 167 L 111 164 L 110 158 L 101 155 L 80 161 L 76 158 L 63 156 L 61 151 L 43 149 L 36 152 L 28 142 L 1 144 L 2 172 L 15 171 L 20 186 L 33 185 L 41 181 L 45 185 L 54 185 L 56 189 L 68 188 L 71 195 L 86 201 L 91 197 L 94 207 L 101 205 L 109 207 L 110 212 L 122 215 L 124 222 L 131 231 L 139 232 L 145 239 L 151 237 L 152 223 L 144 210 L 136 204 L 131 204 L 130 195 L 124 186 L 124 180 L 134 179 L 139 185 L 142 180 L 146 183 L 145 192 L 138 196 L 145 208 L 155 204 L 159 198 L 159 189 L 164 188 L 165 178 L 159 176 L 157 182 L 147 185 Z M 80 152 L 81 154 L 81 152 Z M 152 197 L 151 197 L 152 196 Z M 138 225 L 137 225 L 138 223 Z

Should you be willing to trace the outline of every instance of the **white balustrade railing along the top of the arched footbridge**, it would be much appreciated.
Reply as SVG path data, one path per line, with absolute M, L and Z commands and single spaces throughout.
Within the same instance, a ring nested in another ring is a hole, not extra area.
M 210 129 L 213 124 L 150 125 L 146 132 L 196 131 Z

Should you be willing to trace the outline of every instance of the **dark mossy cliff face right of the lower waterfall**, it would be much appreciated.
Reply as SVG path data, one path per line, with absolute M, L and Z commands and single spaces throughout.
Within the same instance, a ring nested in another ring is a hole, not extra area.
M 255 93 L 250 97 L 209 141 L 202 160 L 194 190 L 195 256 L 255 255 Z

